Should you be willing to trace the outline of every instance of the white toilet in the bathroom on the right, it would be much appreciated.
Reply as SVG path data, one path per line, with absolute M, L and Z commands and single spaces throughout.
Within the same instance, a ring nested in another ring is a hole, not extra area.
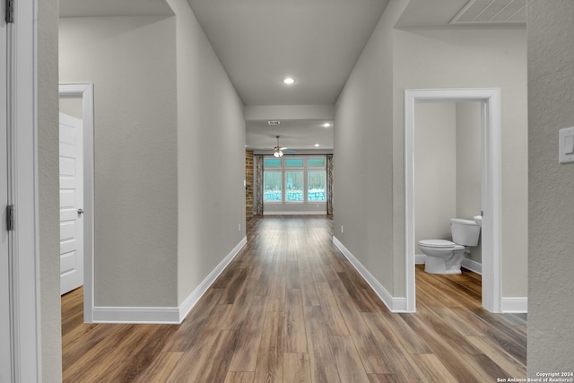
M 419 248 L 426 254 L 424 271 L 431 274 L 460 274 L 460 264 L 468 247 L 478 245 L 481 227 L 462 218 L 450 219 L 452 242 L 444 239 L 422 239 Z

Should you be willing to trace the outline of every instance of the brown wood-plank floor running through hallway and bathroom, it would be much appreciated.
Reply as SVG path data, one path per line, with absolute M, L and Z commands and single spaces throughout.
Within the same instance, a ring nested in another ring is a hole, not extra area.
M 248 222 L 248 245 L 179 325 L 82 323 L 62 297 L 65 382 L 495 382 L 526 377 L 526 315 L 481 308 L 481 276 L 426 274 L 391 313 L 325 217 Z

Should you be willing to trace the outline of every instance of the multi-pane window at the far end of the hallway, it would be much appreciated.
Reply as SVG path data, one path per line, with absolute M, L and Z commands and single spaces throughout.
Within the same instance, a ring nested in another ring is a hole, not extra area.
M 264 202 L 326 203 L 326 158 L 265 158 Z

